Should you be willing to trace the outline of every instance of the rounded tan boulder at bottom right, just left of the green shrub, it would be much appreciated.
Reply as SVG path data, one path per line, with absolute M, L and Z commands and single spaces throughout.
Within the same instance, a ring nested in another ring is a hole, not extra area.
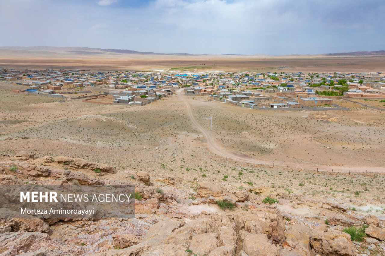
M 350 234 L 337 230 L 323 232 L 314 229 L 310 235 L 310 244 L 316 253 L 328 256 L 356 256 L 356 248 L 353 245 Z

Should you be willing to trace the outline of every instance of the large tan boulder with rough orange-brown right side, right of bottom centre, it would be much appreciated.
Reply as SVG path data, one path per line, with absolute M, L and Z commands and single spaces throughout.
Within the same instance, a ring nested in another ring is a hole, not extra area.
M 285 240 L 285 224 L 281 215 L 267 211 L 236 213 L 233 215 L 238 231 L 252 234 L 266 234 L 275 243 Z

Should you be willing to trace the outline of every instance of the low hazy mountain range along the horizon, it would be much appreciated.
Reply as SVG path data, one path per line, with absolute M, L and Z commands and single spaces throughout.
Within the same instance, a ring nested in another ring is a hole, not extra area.
M 190 54 L 190 53 L 155 53 L 155 52 L 137 52 L 133 50 L 119 50 L 119 49 L 102 49 L 102 48 L 88 48 L 88 47 L 53 47 L 53 46 L 31 46 L 31 47 L 20 47 L 20 46 L 5 46 L 0 47 L 1 52 L 14 52 L 14 53 L 44 53 L 44 54 L 73 54 L 73 55 L 103 55 L 103 54 L 139 54 L 139 55 L 208 55 L 208 54 Z M 242 54 L 222 54 L 224 56 L 256 56 L 256 57 L 276 57 L 268 54 L 255 54 L 255 55 L 242 55 Z M 373 52 L 341 52 L 341 53 L 323 53 L 315 55 L 282 55 L 284 57 L 290 56 L 385 56 L 385 50 L 373 51 Z

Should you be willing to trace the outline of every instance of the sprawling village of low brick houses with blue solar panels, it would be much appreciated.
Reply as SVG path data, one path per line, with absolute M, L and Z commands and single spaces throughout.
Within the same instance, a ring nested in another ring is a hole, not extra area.
M 0 68 L 0 81 L 25 86 L 25 89 L 13 90 L 15 93 L 128 106 L 149 104 L 180 88 L 184 88 L 186 96 L 207 96 L 209 101 L 258 110 L 349 110 L 334 101 L 344 99 L 357 103 L 354 100 L 385 98 L 382 72 L 175 74 L 172 71 Z

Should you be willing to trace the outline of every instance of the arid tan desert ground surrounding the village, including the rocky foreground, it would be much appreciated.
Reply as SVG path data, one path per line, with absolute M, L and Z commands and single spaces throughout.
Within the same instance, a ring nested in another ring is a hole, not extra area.
M 0 66 L 176 73 L 385 70 L 379 56 L 28 54 L 3 55 Z M 122 106 L 20 95 L 12 92 L 17 87 L 0 82 L 1 182 L 63 188 L 51 174 L 69 170 L 82 176 L 67 174 L 64 182 L 71 186 L 130 183 L 140 196 L 134 219 L 39 219 L 35 226 L 5 219 L 3 226 L 13 232 L 0 241 L 0 254 L 385 255 L 385 108 L 336 99 L 351 111 L 328 111 L 334 117 L 328 121 L 310 118 L 310 110 L 249 110 L 182 90 L 149 105 Z M 115 170 L 95 173 L 75 158 Z M 39 165 L 51 174 L 33 169 Z M 28 174 L 34 170 L 36 175 Z M 218 206 L 226 199 L 234 209 Z M 342 232 L 363 225 L 370 227 L 363 240 L 352 242 Z M 15 232 L 17 238 L 11 237 Z

